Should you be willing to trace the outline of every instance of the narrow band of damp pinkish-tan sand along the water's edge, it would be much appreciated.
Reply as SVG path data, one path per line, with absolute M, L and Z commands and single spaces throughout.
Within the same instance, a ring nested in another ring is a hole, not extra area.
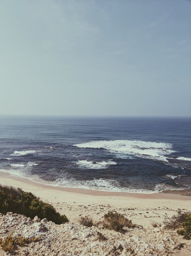
M 42 189 L 50 189 L 50 190 L 58 190 L 63 192 L 69 193 L 77 193 L 83 195 L 92 195 L 92 196 L 114 196 L 114 197 L 136 197 L 136 198 L 150 198 L 150 199 L 182 199 L 182 200 L 191 200 L 191 197 L 188 195 L 180 195 L 180 194 L 173 194 L 169 191 L 166 192 L 154 192 L 154 193 L 134 193 L 134 192 L 117 192 L 117 191 L 102 191 L 102 190 L 92 190 L 87 188 L 72 188 L 72 187 L 60 187 L 60 186 L 53 186 L 48 184 L 43 184 L 40 182 L 35 182 L 30 180 L 29 178 L 18 177 L 9 172 L 1 172 L 0 171 L 0 184 L 4 185 L 3 181 L 10 179 L 13 180 L 13 183 L 16 184 L 26 183 L 30 185 L 34 185 L 36 187 L 41 187 Z M 3 182 L 3 183 L 2 183 Z M 11 184 L 9 184 L 11 185 Z M 12 186 L 12 185 L 11 185 Z M 14 186 L 13 186 L 14 187 Z

